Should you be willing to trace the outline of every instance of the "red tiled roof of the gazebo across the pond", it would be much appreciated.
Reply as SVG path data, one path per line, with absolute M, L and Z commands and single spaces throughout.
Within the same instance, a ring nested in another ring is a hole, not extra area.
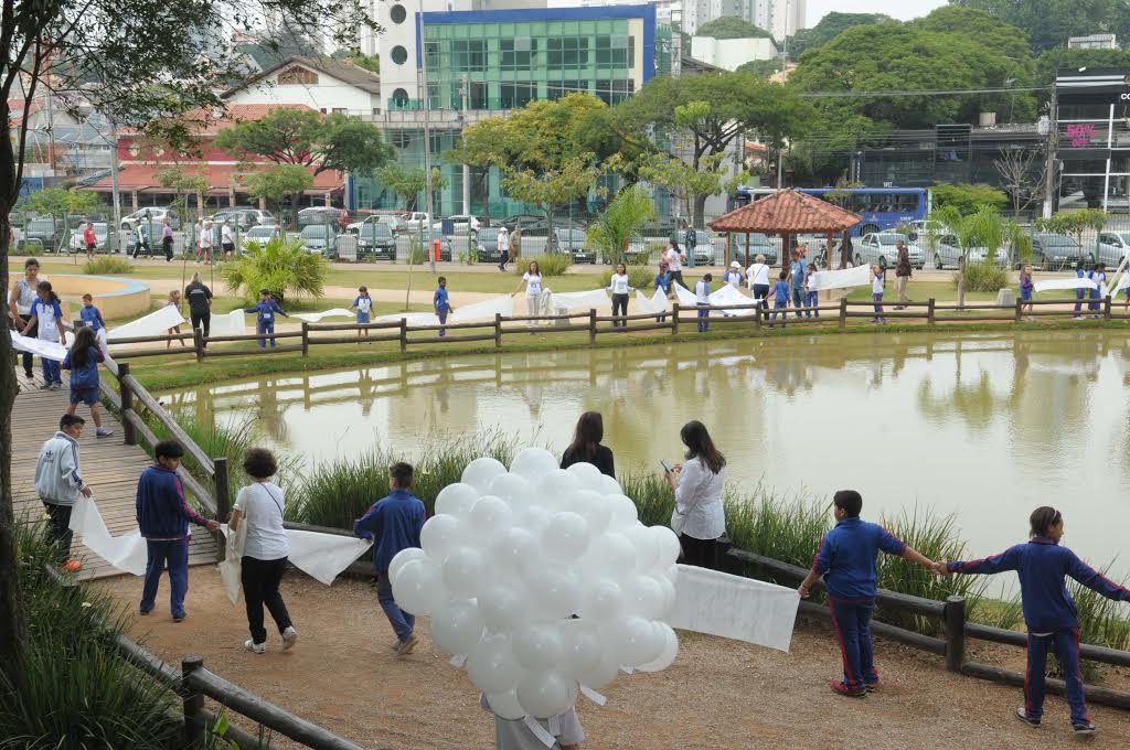
M 710 223 L 714 232 L 824 234 L 843 232 L 862 217 L 796 190 L 780 190 Z

